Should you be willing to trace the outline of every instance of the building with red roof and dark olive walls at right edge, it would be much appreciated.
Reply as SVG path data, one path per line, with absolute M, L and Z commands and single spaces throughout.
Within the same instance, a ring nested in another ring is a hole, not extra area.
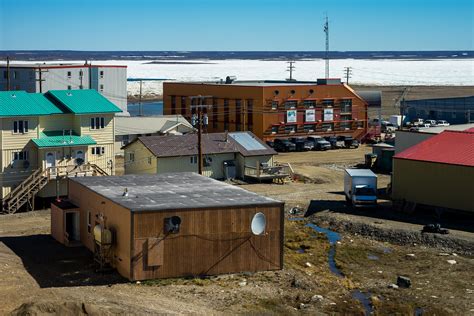
M 393 200 L 474 212 L 474 130 L 442 132 L 393 158 Z

